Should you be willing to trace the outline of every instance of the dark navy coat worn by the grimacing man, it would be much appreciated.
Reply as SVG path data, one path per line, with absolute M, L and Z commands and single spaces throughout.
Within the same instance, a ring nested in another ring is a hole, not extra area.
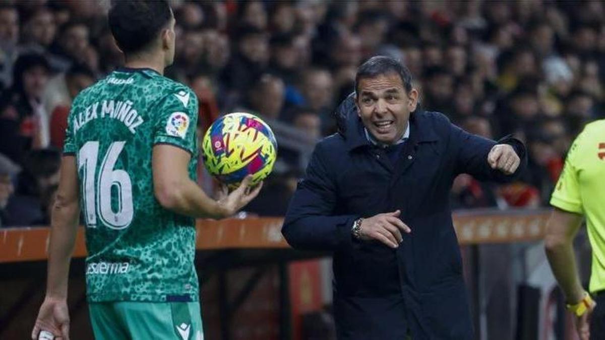
M 495 142 L 468 134 L 440 113 L 414 112 L 396 164 L 368 143 L 361 120 L 315 148 L 290 202 L 283 235 L 296 249 L 332 250 L 338 339 L 472 339 L 460 250 L 448 203 L 456 175 L 509 181 L 526 165 L 492 170 Z M 401 210 L 411 228 L 397 249 L 352 237 L 359 217 Z

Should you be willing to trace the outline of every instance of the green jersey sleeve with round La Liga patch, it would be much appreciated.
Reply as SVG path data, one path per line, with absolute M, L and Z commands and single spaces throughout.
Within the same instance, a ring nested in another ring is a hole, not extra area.
M 175 90 L 155 108 L 154 145 L 170 144 L 195 154 L 197 148 L 197 97 L 189 90 Z

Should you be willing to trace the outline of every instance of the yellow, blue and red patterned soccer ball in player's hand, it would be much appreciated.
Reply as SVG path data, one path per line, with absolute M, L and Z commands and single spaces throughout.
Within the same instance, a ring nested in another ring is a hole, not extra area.
M 263 120 L 249 113 L 230 113 L 217 119 L 204 136 L 203 160 L 210 174 L 237 188 L 248 174 L 252 185 L 273 169 L 277 156 L 275 135 Z

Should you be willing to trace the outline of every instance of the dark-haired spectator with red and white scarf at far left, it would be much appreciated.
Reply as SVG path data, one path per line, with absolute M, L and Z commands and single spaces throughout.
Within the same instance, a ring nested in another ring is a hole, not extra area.
M 44 56 L 19 56 L 13 69 L 13 87 L 0 99 L 0 152 L 15 162 L 21 163 L 30 149 L 48 145 L 48 114 L 42 105 L 47 80 Z

